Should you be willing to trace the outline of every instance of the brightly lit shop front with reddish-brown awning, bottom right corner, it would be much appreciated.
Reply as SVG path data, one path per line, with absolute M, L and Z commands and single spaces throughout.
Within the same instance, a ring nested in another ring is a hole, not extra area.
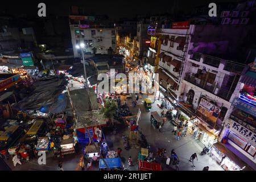
M 213 144 L 210 156 L 225 171 L 241 171 L 246 168 L 246 164 L 221 143 Z

